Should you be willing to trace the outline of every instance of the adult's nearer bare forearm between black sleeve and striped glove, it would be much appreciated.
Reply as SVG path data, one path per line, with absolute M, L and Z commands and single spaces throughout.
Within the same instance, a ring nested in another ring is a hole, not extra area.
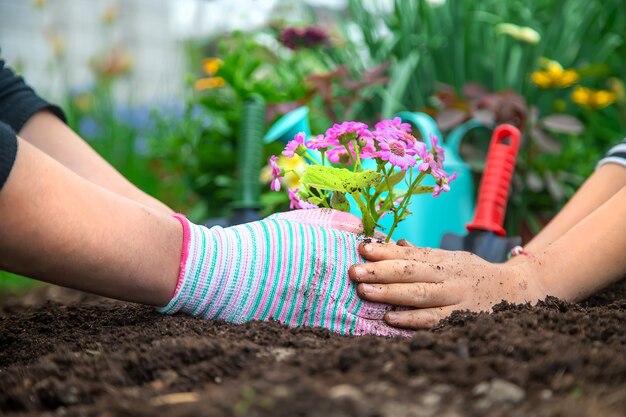
M 95 185 L 22 139 L 17 143 L 0 189 L 0 268 L 165 305 L 178 279 L 179 222 Z

